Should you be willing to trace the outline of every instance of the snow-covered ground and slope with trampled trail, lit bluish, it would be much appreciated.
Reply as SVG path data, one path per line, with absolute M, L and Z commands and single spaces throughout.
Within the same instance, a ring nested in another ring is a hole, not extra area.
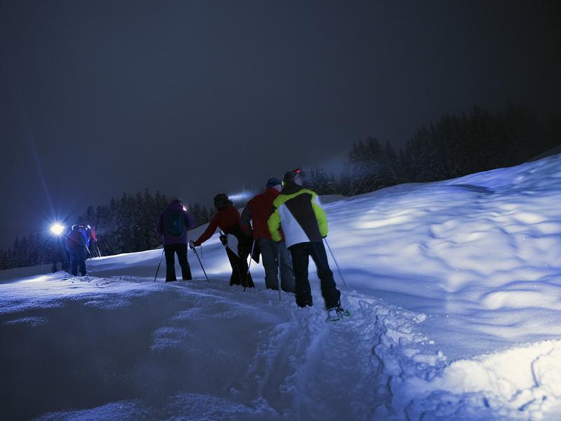
M 337 323 L 313 264 L 313 308 L 255 262 L 228 286 L 217 236 L 210 282 L 192 253 L 196 280 L 152 282 L 161 250 L 0 272 L 0 417 L 561 419 L 560 203 L 561 155 L 330 198 Z

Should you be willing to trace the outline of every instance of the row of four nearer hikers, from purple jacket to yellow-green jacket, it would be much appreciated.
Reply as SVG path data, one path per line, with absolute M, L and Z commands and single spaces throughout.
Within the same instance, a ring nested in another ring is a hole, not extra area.
M 280 272 L 280 288 L 294 293 L 299 307 L 311 306 L 308 265 L 309 258 L 312 258 L 330 317 L 344 314 L 341 293 L 323 246 L 327 236 L 325 211 L 316 192 L 306 189 L 303 184 L 304 172 L 300 169 L 288 171 L 283 180 L 270 178 L 264 192 L 250 199 L 241 215 L 226 194 L 217 194 L 214 198 L 217 212 L 205 232 L 194 241 L 187 240 L 187 231 L 194 227 L 194 220 L 180 199 L 174 199 L 156 223 L 156 232 L 163 240 L 165 281 L 177 280 L 176 254 L 182 279 L 191 280 L 187 246 L 191 249 L 201 246 L 219 229 L 219 239 L 226 248 L 232 269 L 230 285 L 254 288 L 248 257 L 251 255 L 258 261 L 260 255 L 266 288 L 278 290 Z

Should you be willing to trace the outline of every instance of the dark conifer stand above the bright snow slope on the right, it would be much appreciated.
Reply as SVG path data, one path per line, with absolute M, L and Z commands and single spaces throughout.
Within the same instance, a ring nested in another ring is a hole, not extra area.
M 515 166 L 561 145 L 560 119 L 542 121 L 527 107 L 491 113 L 443 114 L 419 128 L 403 148 L 366 138 L 355 142 L 339 175 L 309 171 L 307 185 L 318 194 L 353 196 L 405 182 L 448 180 Z

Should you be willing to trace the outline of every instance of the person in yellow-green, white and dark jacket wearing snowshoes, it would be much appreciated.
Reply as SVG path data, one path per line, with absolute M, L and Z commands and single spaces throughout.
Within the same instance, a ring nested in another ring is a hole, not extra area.
M 335 316 L 344 313 L 341 307 L 341 292 L 333 279 L 333 272 L 327 262 L 323 238 L 327 236 L 327 218 L 316 192 L 302 186 L 304 172 L 300 169 L 285 173 L 285 183 L 280 194 L 273 201 L 271 216 L 267 221 L 271 238 L 281 241 L 282 228 L 285 243 L 292 256 L 292 268 L 296 281 L 296 303 L 299 307 L 313 305 L 308 264 L 311 257 L 318 269 L 321 294 L 327 312 Z

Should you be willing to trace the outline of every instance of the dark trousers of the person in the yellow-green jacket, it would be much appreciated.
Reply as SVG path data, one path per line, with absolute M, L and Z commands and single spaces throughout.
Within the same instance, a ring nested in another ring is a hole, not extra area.
M 339 305 L 341 292 L 335 286 L 333 272 L 327 262 L 327 254 L 323 243 L 310 241 L 308 243 L 298 243 L 288 248 L 292 255 L 292 267 L 296 279 L 296 304 L 299 307 L 312 305 L 310 282 L 308 280 L 308 265 L 311 257 L 318 269 L 320 279 L 321 295 L 325 300 L 325 308 L 330 309 Z

